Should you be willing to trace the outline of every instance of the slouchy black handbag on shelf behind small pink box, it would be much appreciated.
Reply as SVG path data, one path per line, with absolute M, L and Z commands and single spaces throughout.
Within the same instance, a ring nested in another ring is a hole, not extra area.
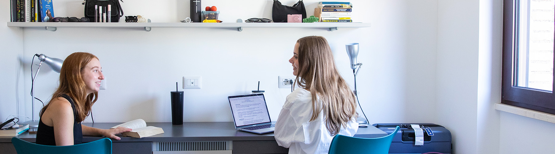
M 274 20 L 275 23 L 286 23 L 287 14 L 302 14 L 302 19 L 306 18 L 305 3 L 302 3 L 301 0 L 290 7 L 284 6 L 281 2 L 274 0 L 274 6 L 272 7 L 272 20 Z

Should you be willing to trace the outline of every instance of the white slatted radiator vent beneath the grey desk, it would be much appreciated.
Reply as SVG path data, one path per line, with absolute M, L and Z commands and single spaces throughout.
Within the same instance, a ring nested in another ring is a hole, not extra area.
M 157 142 L 155 151 L 231 150 L 231 141 Z

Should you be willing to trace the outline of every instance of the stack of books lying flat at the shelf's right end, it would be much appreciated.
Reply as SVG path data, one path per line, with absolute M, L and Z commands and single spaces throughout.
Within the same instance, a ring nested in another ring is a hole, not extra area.
M 352 22 L 351 2 L 320 2 L 314 9 L 314 16 L 320 22 Z

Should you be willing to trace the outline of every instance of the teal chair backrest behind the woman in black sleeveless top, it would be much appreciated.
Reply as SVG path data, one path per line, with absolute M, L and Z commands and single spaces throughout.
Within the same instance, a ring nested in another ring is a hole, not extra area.
M 102 138 L 100 140 L 82 143 L 72 146 L 46 146 L 21 140 L 21 138 L 12 137 L 13 146 L 16 147 L 18 154 L 36 154 L 36 153 L 78 153 L 78 154 L 111 154 L 112 140 L 110 138 Z

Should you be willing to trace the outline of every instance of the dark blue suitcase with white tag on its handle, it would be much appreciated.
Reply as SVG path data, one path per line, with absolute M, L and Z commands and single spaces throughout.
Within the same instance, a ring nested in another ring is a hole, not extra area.
M 429 127 L 433 133 L 430 136 L 424 131 L 424 145 L 415 146 L 415 131 L 412 129 L 411 124 L 374 124 L 372 126 L 385 131 L 387 134 L 391 134 L 396 126 L 401 129 L 397 131 L 393 141 L 391 142 L 391 147 L 389 148 L 389 153 L 403 153 L 403 154 L 420 154 L 420 153 L 445 153 L 451 154 L 451 132 L 445 127 L 430 124 L 430 123 L 415 123 L 420 125 L 421 128 Z

